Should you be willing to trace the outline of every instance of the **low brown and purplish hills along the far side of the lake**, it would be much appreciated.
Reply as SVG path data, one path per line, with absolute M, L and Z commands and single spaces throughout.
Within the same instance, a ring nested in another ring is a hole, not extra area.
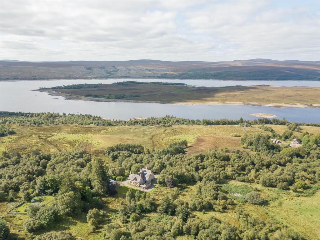
M 0 60 L 0 80 L 75 78 L 181 78 L 224 80 L 320 80 L 320 61 L 250 59 L 206 61 Z

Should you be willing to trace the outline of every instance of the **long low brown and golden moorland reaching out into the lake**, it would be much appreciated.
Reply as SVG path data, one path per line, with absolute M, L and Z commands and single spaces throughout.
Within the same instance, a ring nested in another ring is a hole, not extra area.
M 184 83 L 126 81 L 113 84 L 63 85 L 33 91 L 48 92 L 68 100 L 320 107 L 320 87 L 196 87 Z

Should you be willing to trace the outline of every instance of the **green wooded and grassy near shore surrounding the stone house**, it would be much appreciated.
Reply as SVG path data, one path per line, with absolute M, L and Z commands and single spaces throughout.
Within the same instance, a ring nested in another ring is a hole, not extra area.
M 4 238 L 320 238 L 319 124 L 1 112 L 0 125 Z M 148 193 L 109 182 L 146 166 Z

